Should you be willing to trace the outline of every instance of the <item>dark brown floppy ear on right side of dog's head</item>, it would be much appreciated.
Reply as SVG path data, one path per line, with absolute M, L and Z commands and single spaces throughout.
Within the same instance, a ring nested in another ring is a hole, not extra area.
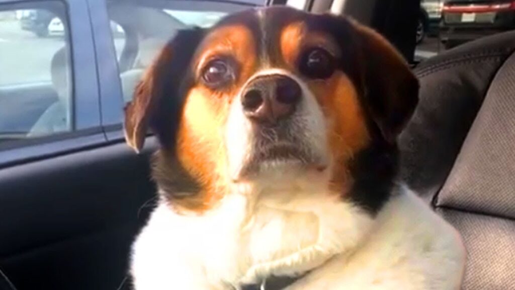
M 419 83 L 404 58 L 380 34 L 354 24 L 364 63 L 364 98 L 389 143 L 396 142 L 418 103 Z

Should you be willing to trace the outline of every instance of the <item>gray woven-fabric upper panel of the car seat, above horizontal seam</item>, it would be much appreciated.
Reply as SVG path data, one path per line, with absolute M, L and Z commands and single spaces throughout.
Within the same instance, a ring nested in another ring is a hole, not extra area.
M 514 76 L 515 52 L 492 80 L 437 205 L 515 218 Z

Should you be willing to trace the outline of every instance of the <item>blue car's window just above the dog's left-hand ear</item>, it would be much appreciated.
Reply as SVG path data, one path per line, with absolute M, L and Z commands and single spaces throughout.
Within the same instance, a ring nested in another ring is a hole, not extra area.
M 252 6 L 212 1 L 110 1 L 108 12 L 124 101 L 132 100 L 143 70 L 179 29 L 210 27 L 224 15 Z M 116 33 L 115 30 L 124 31 Z

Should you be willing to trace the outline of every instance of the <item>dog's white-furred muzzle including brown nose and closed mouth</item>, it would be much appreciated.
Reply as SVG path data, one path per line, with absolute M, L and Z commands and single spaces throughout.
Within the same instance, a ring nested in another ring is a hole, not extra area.
M 304 170 L 321 163 L 323 116 L 295 75 L 263 71 L 248 80 L 238 98 L 226 127 L 234 180 Z

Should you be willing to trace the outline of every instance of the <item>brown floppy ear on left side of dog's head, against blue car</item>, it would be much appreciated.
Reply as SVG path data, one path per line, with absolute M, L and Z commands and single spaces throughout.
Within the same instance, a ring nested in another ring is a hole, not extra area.
M 150 128 L 162 146 L 173 142 L 183 103 L 184 80 L 204 31 L 200 28 L 179 30 L 145 71 L 134 91 L 134 99 L 125 107 L 125 139 L 139 152 Z

